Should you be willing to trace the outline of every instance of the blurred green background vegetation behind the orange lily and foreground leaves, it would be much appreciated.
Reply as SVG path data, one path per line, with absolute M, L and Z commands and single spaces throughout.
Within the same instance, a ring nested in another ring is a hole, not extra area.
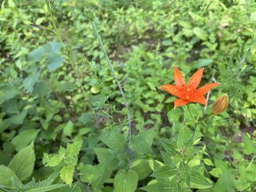
M 127 139 L 127 111 L 94 37 L 86 15 L 90 11 L 127 96 L 132 134 L 146 131 L 152 145 L 154 155 L 149 151 L 143 158 L 161 161 L 160 138 L 192 133 L 188 112 L 173 110 L 175 98 L 159 90 L 173 84 L 173 64 L 187 77 L 205 67 L 202 85 L 222 85 L 209 93 L 209 107 L 192 106 L 194 114 L 207 113 L 224 93 L 230 104 L 199 126 L 197 138 L 203 136 L 209 155 L 229 166 L 241 191 L 255 190 L 255 176 L 244 172 L 248 164 L 252 172 L 256 167 L 255 1 L 59 0 L 50 1 L 52 16 L 45 1 L 0 2 L 0 164 L 9 164 L 34 141 L 32 176 L 43 180 L 53 172 L 42 164 L 44 153 L 58 152 L 76 135 L 83 137 L 80 167 L 100 163 L 97 148 L 111 146 L 105 142 L 109 130 L 117 128 Z M 117 159 L 113 170 L 127 164 Z M 113 170 L 92 185 L 94 191 L 113 183 Z M 148 183 L 146 177 L 141 176 L 138 187 Z M 230 186 L 227 191 L 235 190 Z

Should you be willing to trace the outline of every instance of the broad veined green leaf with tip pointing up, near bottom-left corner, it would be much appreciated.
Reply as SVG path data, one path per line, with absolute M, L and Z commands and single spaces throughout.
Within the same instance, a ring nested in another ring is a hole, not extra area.
M 20 150 L 8 165 L 21 181 L 28 179 L 34 170 L 34 144 Z

